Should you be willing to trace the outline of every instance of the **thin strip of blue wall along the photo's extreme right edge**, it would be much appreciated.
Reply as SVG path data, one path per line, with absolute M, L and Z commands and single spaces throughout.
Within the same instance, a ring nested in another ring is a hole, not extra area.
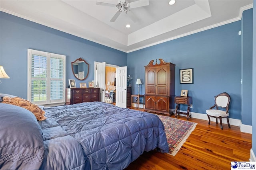
M 253 0 L 252 47 L 252 150 L 256 154 L 256 0 Z M 255 161 L 255 160 L 254 160 Z

